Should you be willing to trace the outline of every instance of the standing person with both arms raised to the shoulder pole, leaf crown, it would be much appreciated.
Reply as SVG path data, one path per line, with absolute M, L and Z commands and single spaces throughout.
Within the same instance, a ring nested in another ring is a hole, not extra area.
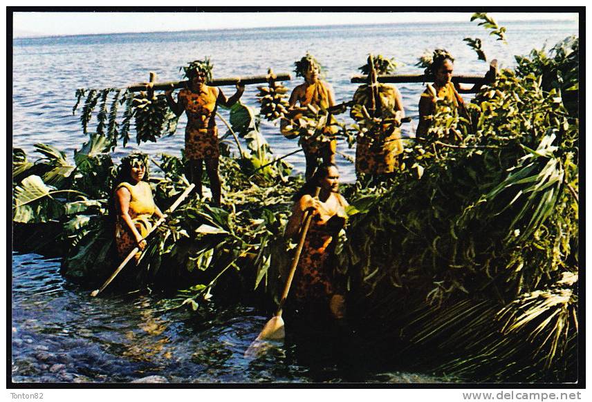
M 218 147 L 218 128 L 216 127 L 216 109 L 218 105 L 230 107 L 243 95 L 245 86 L 237 84 L 237 92 L 226 98 L 220 88 L 206 85 L 212 80 L 212 64 L 210 59 L 192 61 L 183 67 L 185 77 L 189 79 L 188 88 L 179 91 L 177 102 L 168 90 L 167 102 L 172 111 L 180 116 L 187 114 L 185 128 L 185 157 L 189 161 L 189 181 L 195 183 L 196 191 L 202 197 L 201 173 L 203 161 L 205 171 L 210 178 L 212 202 L 220 206 L 221 186 L 218 175 L 220 151 Z

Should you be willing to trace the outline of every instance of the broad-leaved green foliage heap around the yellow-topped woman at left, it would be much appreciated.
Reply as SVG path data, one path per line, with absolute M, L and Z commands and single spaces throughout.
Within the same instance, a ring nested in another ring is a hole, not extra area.
M 290 196 L 302 181 L 288 178 L 290 166 L 272 159 L 258 126 L 251 108 L 240 103 L 231 108 L 228 135 L 246 140 L 247 151 L 241 150 L 238 158 L 221 157 L 224 208 L 210 207 L 196 198 L 183 202 L 158 227 L 138 267 L 127 267 L 133 286 L 189 286 L 181 292 L 180 300 L 172 301 L 194 308 L 225 280 L 234 281 L 235 286 L 238 281 L 248 290 L 275 286 L 275 280 L 268 280 L 268 268 L 286 254 L 281 232 L 292 203 Z M 147 132 L 158 133 L 158 128 L 153 126 Z M 65 153 L 44 144 L 35 146 L 42 157 L 34 161 L 21 149 L 13 150 L 17 237 L 43 237 L 46 227 L 33 226 L 35 223 L 59 224 L 63 229 L 53 233 L 53 238 L 46 236 L 43 244 L 46 248 L 59 245 L 64 256 L 62 273 L 87 284 L 102 283 L 118 265 L 114 217 L 109 215 L 113 213 L 111 187 L 117 173 L 109 155 L 112 146 L 106 135 L 92 134 L 89 142 L 75 151 L 74 164 Z M 188 184 L 185 163 L 165 154 L 152 162 L 158 167 L 150 178 L 155 202 L 165 211 Z M 31 247 L 26 251 L 44 253 Z M 234 276 L 229 275 L 232 272 Z M 277 271 L 274 274 L 279 275 Z M 238 288 L 233 292 L 241 294 Z

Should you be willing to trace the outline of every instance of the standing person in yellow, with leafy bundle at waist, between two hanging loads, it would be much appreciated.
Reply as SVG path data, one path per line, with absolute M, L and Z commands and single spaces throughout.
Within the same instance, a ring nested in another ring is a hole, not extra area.
M 305 126 L 306 123 L 302 119 L 306 120 L 311 117 L 315 119 L 315 117 L 322 116 L 322 113 L 319 112 L 335 106 L 335 95 L 333 95 L 333 88 L 320 79 L 322 66 L 313 55 L 306 53 L 306 56 L 296 61 L 294 65 L 296 76 L 304 77 L 304 84 L 300 84 L 292 91 L 289 113 L 286 116 L 288 118 L 281 120 L 280 129 L 288 138 L 300 136 L 299 142 L 306 158 L 305 176 L 306 179 L 309 179 L 317 169 L 319 158 L 322 158 L 324 164 L 335 164 L 337 143 L 333 137 L 333 128 L 331 128 L 331 122 L 327 124 L 325 121 L 321 128 L 314 129 L 313 126 L 318 125 L 315 122 L 315 124 L 308 124 L 308 133 L 303 135 L 295 133 L 293 127 Z M 324 118 L 329 118 L 329 115 L 324 115 Z M 323 121 L 319 119 L 319 122 Z

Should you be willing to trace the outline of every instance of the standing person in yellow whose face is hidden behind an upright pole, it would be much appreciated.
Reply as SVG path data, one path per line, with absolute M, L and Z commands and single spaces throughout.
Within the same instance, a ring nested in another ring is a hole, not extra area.
M 382 55 L 368 57 L 359 70 L 368 76 L 353 94 L 351 117 L 358 122 L 355 147 L 355 172 L 360 175 L 393 173 L 398 166 L 398 155 L 403 152 L 400 124 L 405 117 L 403 99 L 394 86 L 378 83 L 378 75 L 392 73 L 393 59 Z

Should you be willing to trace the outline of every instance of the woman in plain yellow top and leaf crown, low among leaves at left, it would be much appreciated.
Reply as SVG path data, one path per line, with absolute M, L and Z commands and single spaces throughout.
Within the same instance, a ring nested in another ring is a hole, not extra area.
M 113 198 L 117 218 L 115 221 L 115 244 L 120 258 L 134 248 L 145 249 L 151 223 L 148 218 L 163 213 L 154 204 L 148 178 L 147 156 L 131 153 L 121 160 L 120 169 L 113 186 Z M 140 253 L 136 254 L 136 261 Z

